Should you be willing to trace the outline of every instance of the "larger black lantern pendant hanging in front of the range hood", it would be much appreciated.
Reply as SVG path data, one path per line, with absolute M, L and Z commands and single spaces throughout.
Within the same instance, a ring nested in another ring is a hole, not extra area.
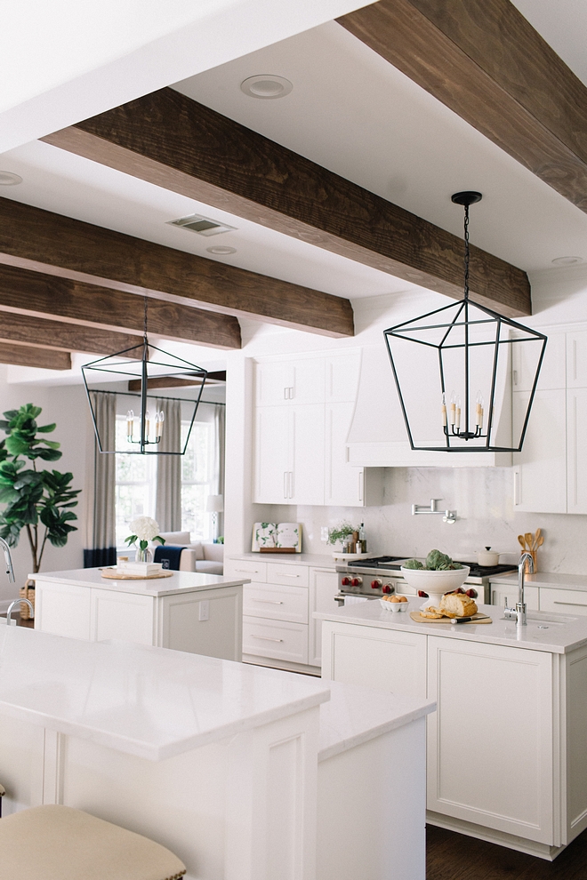
M 469 299 L 469 207 L 480 199 L 452 196 L 464 207 L 463 299 L 384 332 L 414 450 L 519 452 L 524 443 L 546 336 Z M 521 369 L 514 420 L 511 377 Z

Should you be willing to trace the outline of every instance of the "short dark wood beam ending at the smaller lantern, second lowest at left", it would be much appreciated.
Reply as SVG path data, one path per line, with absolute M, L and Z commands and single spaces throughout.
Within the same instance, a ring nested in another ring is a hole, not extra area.
M 113 333 L 99 327 L 44 321 L 30 315 L 14 315 L 12 312 L 0 315 L 0 341 L 40 348 L 59 348 L 67 352 L 88 351 L 96 355 L 115 355 L 141 342 L 129 333 Z M 140 360 L 142 349 L 126 356 Z

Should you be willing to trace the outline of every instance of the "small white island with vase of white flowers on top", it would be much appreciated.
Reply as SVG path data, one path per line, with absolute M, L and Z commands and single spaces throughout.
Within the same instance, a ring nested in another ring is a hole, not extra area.
M 109 580 L 100 568 L 32 577 L 35 628 L 42 632 L 241 660 L 246 579 L 172 572 L 152 580 Z

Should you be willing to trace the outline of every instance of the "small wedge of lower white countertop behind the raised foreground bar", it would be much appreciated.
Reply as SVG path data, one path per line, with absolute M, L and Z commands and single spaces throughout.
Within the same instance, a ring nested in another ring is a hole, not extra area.
M 330 700 L 320 706 L 318 761 L 403 727 L 436 708 L 434 700 L 401 697 L 355 684 L 325 684 L 330 688 Z

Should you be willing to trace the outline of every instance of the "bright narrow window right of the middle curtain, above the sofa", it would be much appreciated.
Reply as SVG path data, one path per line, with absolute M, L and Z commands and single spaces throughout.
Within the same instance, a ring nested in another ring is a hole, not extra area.
M 181 422 L 181 443 L 185 443 L 189 422 Z M 216 492 L 214 480 L 214 431 L 212 421 L 196 421 L 191 429 L 186 454 L 181 459 L 181 531 L 193 538 L 212 537 L 212 517 L 205 512 L 208 495 Z

